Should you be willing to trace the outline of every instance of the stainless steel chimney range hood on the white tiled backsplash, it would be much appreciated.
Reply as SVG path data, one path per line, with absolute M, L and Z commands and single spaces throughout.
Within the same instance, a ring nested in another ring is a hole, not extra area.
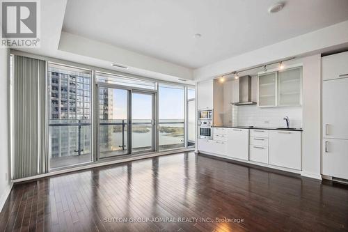
M 235 82 L 238 82 L 238 94 L 236 94 L 237 98 L 232 100 L 231 105 L 255 105 L 256 102 L 251 100 L 251 76 L 239 77 Z

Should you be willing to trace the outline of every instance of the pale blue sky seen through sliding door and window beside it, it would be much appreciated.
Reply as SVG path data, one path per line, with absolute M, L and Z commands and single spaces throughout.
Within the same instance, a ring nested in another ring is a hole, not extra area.
M 184 119 L 184 89 L 159 87 L 159 120 Z M 152 118 L 152 95 L 133 93 L 133 119 Z M 127 90 L 113 89 L 113 119 L 127 118 Z

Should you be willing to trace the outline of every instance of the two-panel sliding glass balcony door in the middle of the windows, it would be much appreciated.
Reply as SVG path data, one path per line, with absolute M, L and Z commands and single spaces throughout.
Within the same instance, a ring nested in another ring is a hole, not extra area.
M 98 159 L 155 150 L 154 92 L 100 83 L 97 102 Z

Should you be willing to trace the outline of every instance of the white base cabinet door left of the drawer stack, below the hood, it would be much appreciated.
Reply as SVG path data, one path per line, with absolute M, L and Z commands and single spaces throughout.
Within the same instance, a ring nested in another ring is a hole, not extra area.
M 227 156 L 241 160 L 249 159 L 248 129 L 228 128 L 227 141 Z

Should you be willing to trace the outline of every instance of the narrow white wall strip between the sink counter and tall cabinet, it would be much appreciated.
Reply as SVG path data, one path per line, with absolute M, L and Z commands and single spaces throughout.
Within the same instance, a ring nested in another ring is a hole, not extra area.
M 321 166 L 321 55 L 303 58 L 302 170 L 320 178 Z

